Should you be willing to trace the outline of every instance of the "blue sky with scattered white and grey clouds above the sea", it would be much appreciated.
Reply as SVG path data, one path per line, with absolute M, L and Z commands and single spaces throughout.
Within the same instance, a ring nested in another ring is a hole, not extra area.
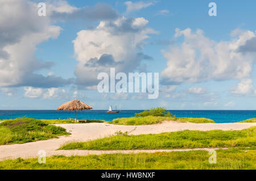
M 39 16 L 38 3 L 46 3 Z M 216 3 L 210 16 L 209 3 Z M 0 1 L 0 110 L 255 110 L 256 1 Z M 101 72 L 159 73 L 159 96 L 100 93 Z

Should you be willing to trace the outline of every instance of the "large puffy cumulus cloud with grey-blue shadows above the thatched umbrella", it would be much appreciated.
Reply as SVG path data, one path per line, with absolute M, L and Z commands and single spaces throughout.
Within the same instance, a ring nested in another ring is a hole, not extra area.
M 92 30 L 82 30 L 73 40 L 76 60 L 75 75 L 78 85 L 90 87 L 98 83 L 97 75 L 109 73 L 110 68 L 118 72 L 131 72 L 138 68 L 142 59 L 149 56 L 138 53 L 150 33 L 144 18 L 125 18 L 101 21 Z

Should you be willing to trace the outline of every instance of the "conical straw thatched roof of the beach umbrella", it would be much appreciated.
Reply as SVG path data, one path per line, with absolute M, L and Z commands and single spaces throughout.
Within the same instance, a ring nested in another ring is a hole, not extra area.
M 71 100 L 67 103 L 62 104 L 57 110 L 68 110 L 68 111 L 75 111 L 75 110 L 91 110 L 92 107 L 81 102 L 81 100 Z

